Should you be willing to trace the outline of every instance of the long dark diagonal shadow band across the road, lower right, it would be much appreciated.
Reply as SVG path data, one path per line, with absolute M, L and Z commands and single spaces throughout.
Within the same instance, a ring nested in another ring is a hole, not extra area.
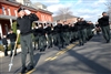
M 95 74 L 111 74 L 111 71 L 103 67 L 102 65 L 84 57 L 82 54 L 77 53 L 75 51 L 70 50 L 69 54 L 80 62 L 84 63 L 87 66 L 95 71 Z

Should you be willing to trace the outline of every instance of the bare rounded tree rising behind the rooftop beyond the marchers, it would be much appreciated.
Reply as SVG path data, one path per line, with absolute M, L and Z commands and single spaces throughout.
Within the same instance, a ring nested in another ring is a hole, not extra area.
M 67 8 L 60 8 L 57 12 L 58 15 L 62 15 L 63 20 L 67 20 L 68 15 L 72 14 L 72 11 L 70 10 L 69 7 Z

